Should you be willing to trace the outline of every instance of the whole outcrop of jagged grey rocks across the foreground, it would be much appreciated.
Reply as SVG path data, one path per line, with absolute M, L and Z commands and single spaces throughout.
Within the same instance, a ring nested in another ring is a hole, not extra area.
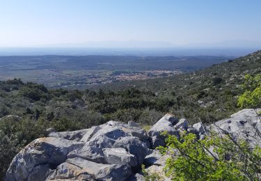
M 29 143 L 15 156 L 6 180 L 144 180 L 141 164 L 157 173 L 164 166 L 166 156 L 155 150 L 165 144 L 161 132 L 179 136 L 186 130 L 204 139 L 213 129 L 260 144 L 255 139 L 256 129 L 261 131 L 259 119 L 253 109 L 244 109 L 208 127 L 166 114 L 148 134 L 136 123 L 116 121 L 74 132 L 49 129 L 47 137 Z

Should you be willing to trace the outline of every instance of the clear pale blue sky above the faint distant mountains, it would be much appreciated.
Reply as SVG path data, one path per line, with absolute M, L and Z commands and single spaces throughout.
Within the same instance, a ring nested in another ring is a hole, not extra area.
M 0 47 L 261 42 L 260 0 L 0 0 Z

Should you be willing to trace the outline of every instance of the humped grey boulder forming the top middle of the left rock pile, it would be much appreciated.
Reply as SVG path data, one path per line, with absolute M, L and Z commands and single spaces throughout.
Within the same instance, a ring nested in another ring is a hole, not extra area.
M 126 136 L 135 136 L 138 140 L 148 140 L 148 135 L 144 129 L 129 127 L 129 125 L 125 123 L 109 121 L 99 127 L 91 128 L 90 132 L 88 131 L 81 139 L 81 141 L 87 141 L 84 147 L 80 150 L 70 152 L 68 157 L 81 157 L 92 162 L 106 164 L 103 149 L 113 148 L 113 144 L 117 139 Z

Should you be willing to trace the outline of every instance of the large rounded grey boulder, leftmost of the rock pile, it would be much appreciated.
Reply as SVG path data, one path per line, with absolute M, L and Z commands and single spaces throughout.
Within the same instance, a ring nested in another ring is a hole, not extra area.
M 70 151 L 79 149 L 82 143 L 66 139 L 47 137 L 36 139 L 21 150 L 13 159 L 6 174 L 6 180 L 30 180 L 31 173 L 40 173 L 45 167 L 55 168 L 65 162 Z M 42 169 L 39 169 L 40 165 Z M 36 167 L 36 168 L 35 168 Z M 44 175 L 45 173 L 41 173 Z

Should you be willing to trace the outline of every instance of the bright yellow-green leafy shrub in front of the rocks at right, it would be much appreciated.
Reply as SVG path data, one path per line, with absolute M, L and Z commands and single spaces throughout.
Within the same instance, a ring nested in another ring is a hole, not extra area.
M 244 93 L 239 96 L 238 105 L 246 108 L 261 106 L 261 76 L 249 74 L 242 85 Z M 259 114 L 259 113 L 257 113 Z M 261 121 L 261 118 L 260 118 Z M 252 125 L 256 136 L 261 138 L 260 130 Z M 242 139 L 235 139 L 211 132 L 205 139 L 196 134 L 184 132 L 177 136 L 168 135 L 166 147 L 158 148 L 163 155 L 169 155 L 164 171 L 173 180 L 260 180 L 261 148 L 250 146 Z M 157 173 L 146 173 L 146 180 L 158 180 Z

